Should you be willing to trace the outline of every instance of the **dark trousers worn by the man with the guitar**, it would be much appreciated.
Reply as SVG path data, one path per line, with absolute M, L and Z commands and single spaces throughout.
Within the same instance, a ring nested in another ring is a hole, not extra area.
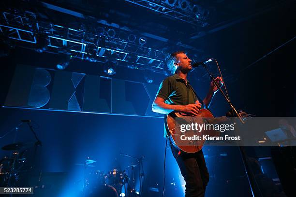
M 176 155 L 175 148 L 171 149 L 186 182 L 185 197 L 204 197 L 209 174 L 203 151 L 193 154 L 181 152 L 180 155 Z

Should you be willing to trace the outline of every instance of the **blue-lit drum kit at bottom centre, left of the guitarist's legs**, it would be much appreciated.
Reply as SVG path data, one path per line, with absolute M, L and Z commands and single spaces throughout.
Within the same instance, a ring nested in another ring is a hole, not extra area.
M 87 170 L 89 167 L 95 167 L 95 160 L 87 157 L 84 164 L 75 164 L 85 167 L 84 189 L 85 197 L 140 197 L 135 189 L 134 168 L 139 164 L 128 166 L 132 169 L 130 178 L 126 170 L 111 169 L 108 172 L 101 170 Z M 87 171 L 87 172 L 86 172 Z M 124 193 L 123 193 L 124 191 Z

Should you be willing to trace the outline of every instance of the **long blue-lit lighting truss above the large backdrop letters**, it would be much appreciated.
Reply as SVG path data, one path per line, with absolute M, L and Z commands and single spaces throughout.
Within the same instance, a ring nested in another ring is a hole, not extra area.
M 72 58 L 99 62 L 117 60 L 128 68 L 131 68 L 129 65 L 137 65 L 137 69 L 159 73 L 164 71 L 164 61 L 168 54 L 129 42 L 127 39 L 36 21 L 34 17 L 28 17 L 26 14 L 2 12 L 1 16 L 0 31 L 5 37 L 36 44 L 38 35 L 45 35 L 48 42 L 47 52 L 68 53 Z M 32 48 L 34 47 L 33 45 Z

